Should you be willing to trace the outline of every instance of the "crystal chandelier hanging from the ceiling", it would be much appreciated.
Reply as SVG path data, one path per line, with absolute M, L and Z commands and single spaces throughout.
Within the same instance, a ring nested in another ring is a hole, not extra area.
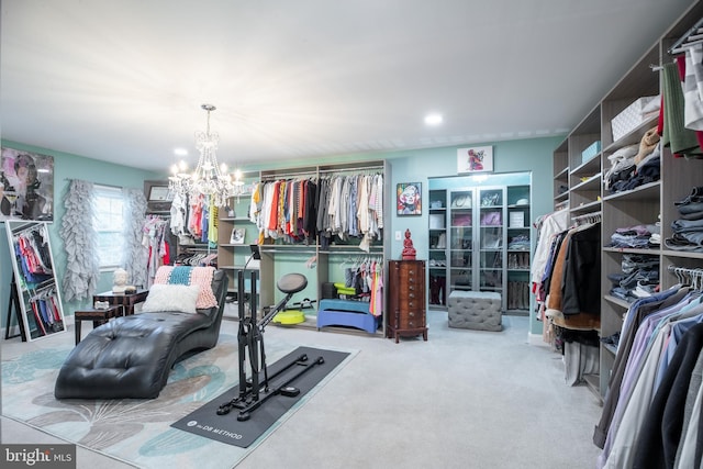
M 208 111 L 208 127 L 205 132 L 196 132 L 196 148 L 200 152 L 198 166 L 192 174 L 188 174 L 185 161 L 174 165 L 168 188 L 183 198 L 209 196 L 216 206 L 225 206 L 227 199 L 243 193 L 244 182 L 238 175 L 233 180 L 226 165 L 217 164 L 220 135 L 210 132 L 210 113 L 216 108 L 212 104 L 202 104 L 201 108 Z

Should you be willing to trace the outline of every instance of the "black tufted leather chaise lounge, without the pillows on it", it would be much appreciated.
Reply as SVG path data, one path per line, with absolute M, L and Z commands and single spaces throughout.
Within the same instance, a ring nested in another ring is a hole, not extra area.
M 217 344 L 226 292 L 227 276 L 215 270 L 212 275 L 215 306 L 197 312 L 142 312 L 94 328 L 67 357 L 56 379 L 54 395 L 157 398 L 176 361 Z

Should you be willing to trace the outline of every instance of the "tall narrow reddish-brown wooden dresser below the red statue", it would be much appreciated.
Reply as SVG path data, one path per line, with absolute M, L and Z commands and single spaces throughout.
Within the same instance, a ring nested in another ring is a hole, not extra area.
M 416 336 L 427 340 L 425 261 L 390 260 L 388 265 L 388 324 L 386 336 Z

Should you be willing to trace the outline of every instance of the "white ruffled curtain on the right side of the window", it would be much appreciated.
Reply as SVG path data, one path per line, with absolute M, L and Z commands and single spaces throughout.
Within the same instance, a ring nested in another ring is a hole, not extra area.
M 124 258 L 122 266 L 130 276 L 130 283 L 146 288 L 149 250 L 143 244 L 146 223 L 146 197 L 140 189 L 122 189 L 124 198 Z

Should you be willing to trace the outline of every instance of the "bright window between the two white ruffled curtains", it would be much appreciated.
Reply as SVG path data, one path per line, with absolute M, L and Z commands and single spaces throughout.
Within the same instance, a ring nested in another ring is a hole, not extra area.
M 118 268 L 124 252 L 124 198 L 119 188 L 96 185 L 96 217 L 98 256 L 101 269 Z

